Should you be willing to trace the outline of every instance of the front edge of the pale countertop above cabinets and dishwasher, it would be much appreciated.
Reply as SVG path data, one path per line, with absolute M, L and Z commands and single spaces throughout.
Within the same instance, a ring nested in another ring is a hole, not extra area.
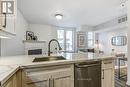
M 23 68 L 33 68 L 33 67 L 39 67 L 39 66 L 53 66 L 53 65 L 60 65 L 60 64 L 75 64 L 79 62 L 84 62 L 84 61 L 90 61 L 90 60 L 114 60 L 116 58 L 114 57 L 107 57 L 107 58 L 97 58 L 97 59 L 79 59 L 79 60 L 66 60 L 66 61 L 58 61 L 58 62 L 47 62 L 47 63 L 34 63 L 34 64 L 19 64 L 18 67 L 14 68 L 8 75 L 5 77 L 2 81 L 0 81 L 0 87 L 2 87 L 19 69 Z M 11 65 L 10 65 L 11 66 Z

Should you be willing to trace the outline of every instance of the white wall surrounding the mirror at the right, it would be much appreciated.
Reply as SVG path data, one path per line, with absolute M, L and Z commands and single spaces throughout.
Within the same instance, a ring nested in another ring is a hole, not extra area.
M 106 32 L 98 33 L 99 35 L 99 43 L 100 50 L 104 51 L 105 54 L 111 54 L 112 49 L 115 49 L 117 53 L 127 53 L 127 45 L 126 46 L 112 46 L 111 39 L 114 36 L 127 36 L 127 28 L 110 30 Z

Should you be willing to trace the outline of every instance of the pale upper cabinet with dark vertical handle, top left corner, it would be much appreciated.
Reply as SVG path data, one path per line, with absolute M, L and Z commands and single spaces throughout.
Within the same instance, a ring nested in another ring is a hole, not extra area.
M 15 36 L 17 0 L 0 1 L 0 37 Z

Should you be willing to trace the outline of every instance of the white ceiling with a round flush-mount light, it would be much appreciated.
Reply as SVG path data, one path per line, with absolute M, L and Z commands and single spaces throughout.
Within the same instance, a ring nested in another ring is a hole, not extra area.
M 121 0 L 18 0 L 18 8 L 29 23 L 55 26 L 95 26 L 126 14 Z M 63 20 L 56 20 L 55 14 Z

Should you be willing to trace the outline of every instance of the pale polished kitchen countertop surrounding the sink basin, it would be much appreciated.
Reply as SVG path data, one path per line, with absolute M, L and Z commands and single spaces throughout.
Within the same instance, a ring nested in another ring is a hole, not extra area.
M 52 56 L 64 56 L 66 60 L 48 61 L 48 62 L 32 62 L 35 57 L 43 57 L 47 55 L 21 55 L 0 57 L 0 86 L 4 84 L 17 70 L 20 68 L 50 66 L 60 64 L 78 63 L 88 60 L 106 60 L 114 59 L 112 56 L 96 55 L 93 53 L 62 53 L 53 54 Z

